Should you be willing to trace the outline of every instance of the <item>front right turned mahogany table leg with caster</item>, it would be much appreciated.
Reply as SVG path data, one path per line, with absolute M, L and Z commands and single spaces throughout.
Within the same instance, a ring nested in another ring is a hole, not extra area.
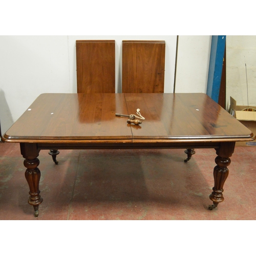
M 214 168 L 214 187 L 209 198 L 214 203 L 208 206 L 208 209 L 212 210 L 218 206 L 219 203 L 224 201 L 223 186 L 228 177 L 228 168 L 230 164 L 230 158 L 234 150 L 234 142 L 222 143 L 221 147 L 216 150 L 217 157 L 215 162 L 217 166 Z

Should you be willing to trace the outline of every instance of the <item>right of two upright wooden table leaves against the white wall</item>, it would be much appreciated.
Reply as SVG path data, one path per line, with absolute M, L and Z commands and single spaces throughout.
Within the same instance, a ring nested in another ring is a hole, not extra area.
M 122 93 L 164 92 L 165 41 L 122 41 Z

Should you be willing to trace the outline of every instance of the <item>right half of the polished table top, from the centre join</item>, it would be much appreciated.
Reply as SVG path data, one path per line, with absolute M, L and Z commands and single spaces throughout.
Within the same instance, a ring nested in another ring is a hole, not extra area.
M 214 139 L 252 137 L 251 132 L 203 93 L 125 94 L 129 114 L 145 117 L 134 139 Z

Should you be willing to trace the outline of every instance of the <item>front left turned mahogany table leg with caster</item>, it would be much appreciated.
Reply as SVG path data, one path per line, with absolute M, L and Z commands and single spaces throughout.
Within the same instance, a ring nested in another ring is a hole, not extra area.
M 38 206 L 42 202 L 42 198 L 39 195 L 39 181 L 40 181 L 40 170 L 37 168 L 39 165 L 38 155 L 39 151 L 36 148 L 36 144 L 20 143 L 20 151 L 25 158 L 24 165 L 27 167 L 25 172 L 26 180 L 29 184 L 29 200 L 28 203 L 33 205 L 35 217 L 38 216 Z

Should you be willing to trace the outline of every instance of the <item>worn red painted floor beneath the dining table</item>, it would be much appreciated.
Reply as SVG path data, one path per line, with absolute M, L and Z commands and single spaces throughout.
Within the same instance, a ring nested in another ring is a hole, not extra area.
M 256 220 L 256 147 L 236 147 L 214 210 L 214 149 L 60 151 L 39 155 L 39 216 L 28 204 L 23 157 L 0 143 L 0 220 Z

